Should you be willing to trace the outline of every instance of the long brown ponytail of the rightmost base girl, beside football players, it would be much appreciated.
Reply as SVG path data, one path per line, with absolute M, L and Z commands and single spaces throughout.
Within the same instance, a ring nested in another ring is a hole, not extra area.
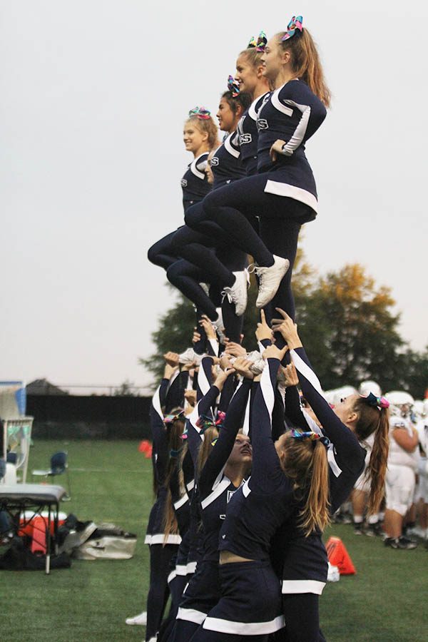
M 370 406 L 365 397 L 357 398 L 354 404 L 358 414 L 355 434 L 359 442 L 374 434 L 370 462 L 365 469 L 365 478 L 370 479 L 370 493 L 367 504 L 368 514 L 377 513 L 384 496 L 384 481 L 387 474 L 389 451 L 389 411 L 386 408 Z

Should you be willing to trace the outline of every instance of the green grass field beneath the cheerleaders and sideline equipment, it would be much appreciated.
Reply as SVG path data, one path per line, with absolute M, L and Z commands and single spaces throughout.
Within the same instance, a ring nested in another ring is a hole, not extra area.
M 29 472 L 46 467 L 59 449 L 68 451 L 72 490 L 61 510 L 136 533 L 136 554 L 126 561 L 73 561 L 71 569 L 49 576 L 0 571 L 0 640 L 141 641 L 145 629 L 124 621 L 145 608 L 151 462 L 135 442 L 46 441 L 31 449 Z M 379 539 L 355 536 L 352 526 L 335 526 L 330 534 L 344 541 L 357 575 L 325 588 L 321 624 L 327 641 L 427 642 L 428 551 L 387 549 Z

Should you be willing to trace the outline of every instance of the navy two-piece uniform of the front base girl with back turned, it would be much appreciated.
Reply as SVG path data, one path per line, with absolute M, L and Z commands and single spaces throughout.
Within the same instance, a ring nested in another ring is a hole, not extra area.
M 247 561 L 220 564 L 221 598 L 192 642 L 265 639 L 284 626 L 280 581 L 270 564 L 272 536 L 302 506 L 272 440 L 272 409 L 280 362 L 268 359 L 251 411 L 251 477 L 234 494 L 220 531 L 220 551 Z M 254 590 L 258 587 L 260 590 Z M 231 637 L 230 637 L 231 636 Z

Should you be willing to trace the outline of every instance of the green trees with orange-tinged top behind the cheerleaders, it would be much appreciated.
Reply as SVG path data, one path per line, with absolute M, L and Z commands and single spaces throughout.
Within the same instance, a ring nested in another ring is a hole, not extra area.
M 293 272 L 296 322 L 307 354 L 324 389 L 343 384 L 357 386 L 374 379 L 386 392 L 405 389 L 423 397 L 428 384 L 428 348 L 423 353 L 409 350 L 398 332 L 399 314 L 388 287 L 377 286 L 362 265 L 345 265 L 325 276 L 299 256 Z M 244 320 L 247 350 L 254 350 L 254 330 L 259 320 L 255 308 L 257 287 L 251 280 Z M 142 365 L 161 377 L 162 355 L 182 352 L 191 345 L 195 312 L 181 295 L 159 320 L 153 332 L 156 352 Z

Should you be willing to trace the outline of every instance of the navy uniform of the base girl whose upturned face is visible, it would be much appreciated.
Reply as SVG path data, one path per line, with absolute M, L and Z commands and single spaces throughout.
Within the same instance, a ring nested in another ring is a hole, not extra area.
M 225 476 L 224 469 L 233 449 L 245 411 L 250 382 L 240 386 L 230 402 L 228 412 L 220 428 L 219 437 L 198 479 L 198 496 L 203 525 L 203 559 L 198 563 L 195 575 L 183 594 L 178 609 L 173 642 L 185 642 L 198 629 L 207 613 L 220 599 L 220 578 L 218 573 L 218 537 L 226 514 L 226 506 L 238 490 Z M 193 430 L 201 429 L 196 422 L 200 414 L 207 414 L 218 397 L 218 388 L 213 386 L 198 403 L 190 422 Z M 190 429 L 189 429 L 190 430 Z

